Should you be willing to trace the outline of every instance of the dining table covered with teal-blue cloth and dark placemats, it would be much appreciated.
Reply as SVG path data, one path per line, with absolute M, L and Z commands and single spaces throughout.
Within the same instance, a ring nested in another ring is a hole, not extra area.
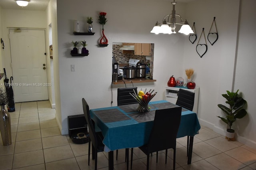
M 153 127 L 155 111 L 179 107 L 165 100 L 148 103 L 149 112 L 136 111 L 138 104 L 121 105 L 90 109 L 91 119 L 96 131 L 101 131 L 104 139 L 104 151 L 108 152 L 108 169 L 114 169 L 114 150 L 135 148 L 147 144 Z M 170 113 L 172 114 L 172 113 Z M 177 138 L 190 136 L 188 164 L 191 164 L 194 136 L 198 134 L 200 124 L 196 113 L 182 108 Z M 168 134 L 168 131 L 166 132 Z

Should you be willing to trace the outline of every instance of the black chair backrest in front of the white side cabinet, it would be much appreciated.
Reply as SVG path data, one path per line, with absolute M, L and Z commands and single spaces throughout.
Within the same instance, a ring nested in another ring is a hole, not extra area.
M 194 99 L 194 92 L 180 89 L 178 92 L 178 99 L 176 101 L 176 105 L 192 111 L 194 107 Z

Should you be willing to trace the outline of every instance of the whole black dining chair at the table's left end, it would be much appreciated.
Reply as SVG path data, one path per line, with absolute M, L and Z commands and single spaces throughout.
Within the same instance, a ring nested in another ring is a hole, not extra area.
M 102 143 L 102 140 L 104 137 L 101 132 L 95 131 L 94 122 L 90 117 L 90 109 L 84 98 L 82 98 L 82 105 L 83 105 L 84 117 L 89 127 L 88 166 L 90 166 L 90 147 L 92 142 L 92 152 L 93 152 L 92 159 L 95 159 L 94 169 L 97 170 L 97 155 L 98 155 L 97 153 L 104 151 L 104 144 Z

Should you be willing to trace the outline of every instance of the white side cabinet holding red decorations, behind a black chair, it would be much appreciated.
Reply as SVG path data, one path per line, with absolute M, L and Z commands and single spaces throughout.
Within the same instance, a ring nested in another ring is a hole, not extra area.
M 178 92 L 180 89 L 192 91 L 195 93 L 193 112 L 197 113 L 199 87 L 196 87 L 195 89 L 187 89 L 185 87 L 168 87 L 167 86 L 165 88 L 165 100 L 169 101 L 170 103 L 176 104 L 176 101 L 178 99 Z

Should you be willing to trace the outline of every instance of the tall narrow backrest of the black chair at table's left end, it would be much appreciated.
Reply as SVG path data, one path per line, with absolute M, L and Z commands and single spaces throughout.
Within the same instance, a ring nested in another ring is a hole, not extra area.
M 93 146 L 97 147 L 98 146 L 98 140 L 97 140 L 97 136 L 96 136 L 96 132 L 95 132 L 95 127 L 94 127 L 94 124 L 92 123 L 89 106 L 88 106 L 88 104 L 87 104 L 87 102 L 85 101 L 84 98 L 82 98 L 82 104 L 83 104 L 84 117 L 85 117 L 86 122 L 87 122 L 88 127 L 89 127 L 90 140 L 91 140 Z

